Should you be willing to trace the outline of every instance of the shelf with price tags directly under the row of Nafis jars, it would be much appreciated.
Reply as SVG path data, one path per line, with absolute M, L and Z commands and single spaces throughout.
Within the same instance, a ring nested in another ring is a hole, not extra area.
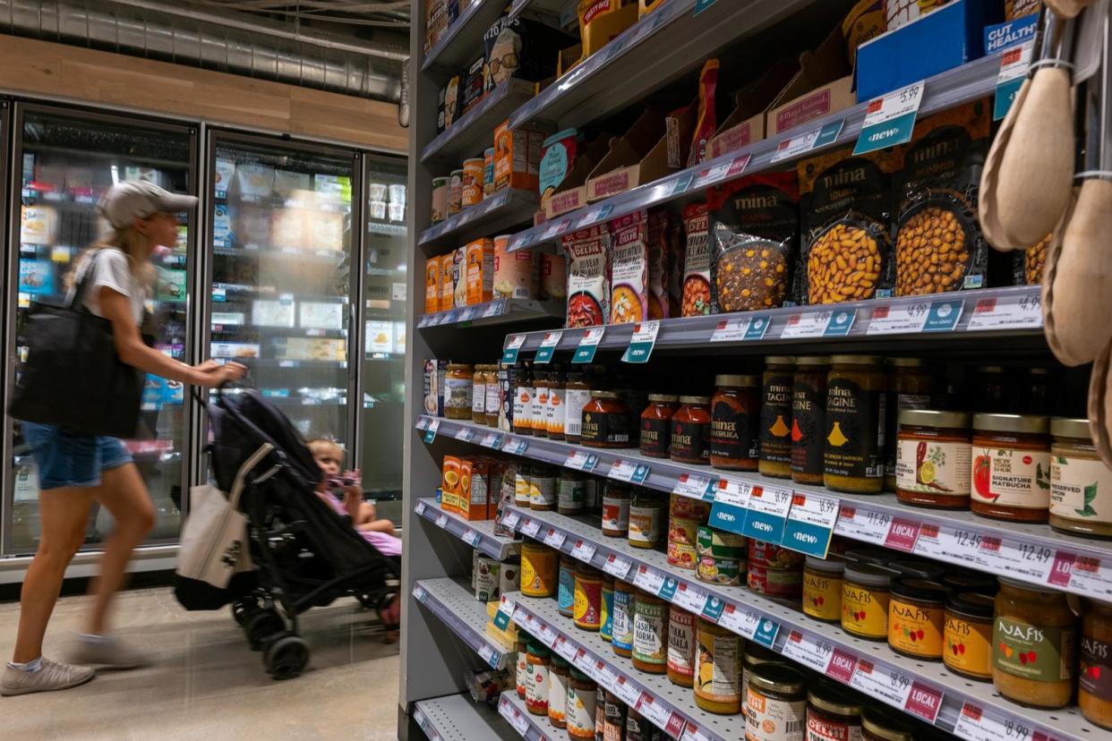
M 941 662 L 903 657 L 886 643 L 856 639 L 837 624 L 812 620 L 798 609 L 784 607 L 744 588 L 699 581 L 694 571 L 668 565 L 663 553 L 634 548 L 623 538 L 606 538 L 594 523 L 556 512 L 534 512 L 517 507 L 510 511 L 517 514 L 515 525 L 522 532 L 534 532 L 549 543 L 563 537 L 562 552 L 702 614 L 746 640 L 766 645 L 946 732 L 954 731 L 962 709 L 969 704 L 980 711 L 973 714 L 987 719 L 983 722 L 1011 722 L 1013 728 L 1026 728 L 1050 739 L 1098 738 L 1104 733 L 1084 720 L 1076 708 L 1023 708 L 1001 698 L 992 684 L 967 681 L 946 670 Z M 557 624 L 560 620 L 566 621 L 558 617 L 554 601 L 545 601 L 548 604 L 544 610 L 535 608 L 534 602 L 518 599 L 516 610 L 524 608 L 526 614 L 533 613 Z M 528 630 L 516 611 L 514 620 Z

